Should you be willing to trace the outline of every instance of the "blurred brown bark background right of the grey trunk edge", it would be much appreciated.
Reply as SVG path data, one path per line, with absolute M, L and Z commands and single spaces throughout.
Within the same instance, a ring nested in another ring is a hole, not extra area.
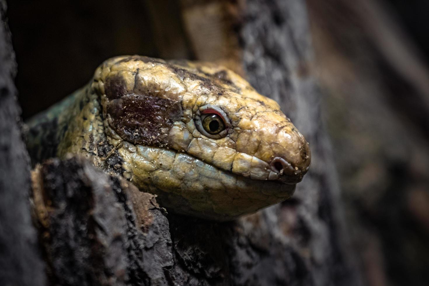
M 307 3 L 345 214 L 366 283 L 428 285 L 427 61 L 388 3 Z M 407 5 L 414 33 L 428 27 L 417 16 L 427 18 L 425 5 Z

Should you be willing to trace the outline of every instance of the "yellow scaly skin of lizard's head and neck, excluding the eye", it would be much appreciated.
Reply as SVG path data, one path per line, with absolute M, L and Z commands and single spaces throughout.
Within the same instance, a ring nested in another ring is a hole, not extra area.
M 197 126 L 207 112 L 224 116 L 222 136 Z M 168 210 L 214 220 L 288 199 L 310 165 L 278 104 L 210 63 L 114 57 L 29 126 L 33 160 L 84 154 Z

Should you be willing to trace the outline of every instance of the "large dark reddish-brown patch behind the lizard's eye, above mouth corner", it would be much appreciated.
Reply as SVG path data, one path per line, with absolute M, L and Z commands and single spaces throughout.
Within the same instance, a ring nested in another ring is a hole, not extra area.
M 109 102 L 111 125 L 126 141 L 143 145 L 165 144 L 172 123 L 182 116 L 180 102 L 127 94 Z

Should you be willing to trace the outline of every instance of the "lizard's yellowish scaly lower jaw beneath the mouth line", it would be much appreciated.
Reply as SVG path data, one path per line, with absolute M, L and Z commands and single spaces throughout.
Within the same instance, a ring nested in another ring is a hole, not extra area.
M 118 150 L 124 159 L 124 176 L 140 190 L 158 195 L 157 201 L 167 211 L 232 220 L 282 202 L 295 190 L 294 184 L 245 178 L 186 153 L 135 147 Z M 164 164 L 151 158 L 163 158 Z

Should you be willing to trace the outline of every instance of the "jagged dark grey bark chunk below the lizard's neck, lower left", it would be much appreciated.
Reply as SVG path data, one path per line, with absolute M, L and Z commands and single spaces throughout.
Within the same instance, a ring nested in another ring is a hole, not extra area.
M 36 168 L 33 200 L 51 285 L 168 285 L 169 224 L 153 195 L 72 158 Z

